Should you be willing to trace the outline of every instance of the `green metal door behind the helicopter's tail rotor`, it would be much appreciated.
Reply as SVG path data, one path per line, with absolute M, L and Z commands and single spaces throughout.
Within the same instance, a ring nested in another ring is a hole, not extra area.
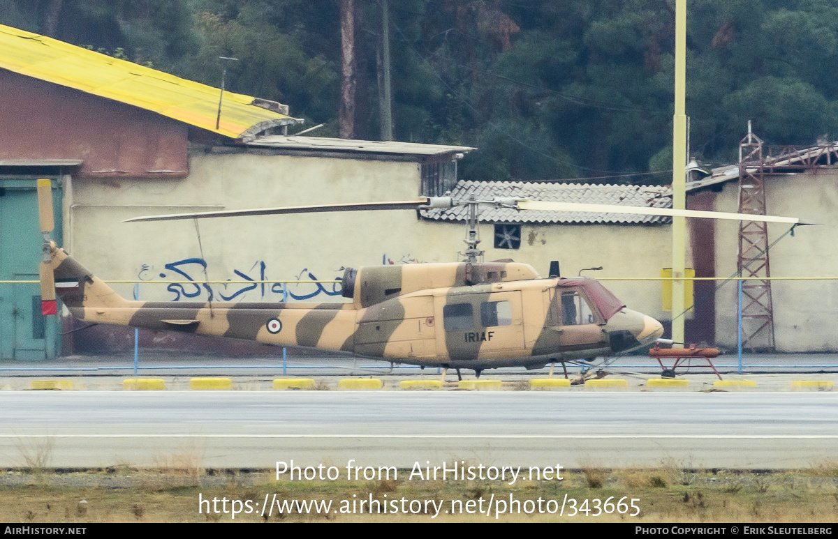
M 59 316 L 42 316 L 38 280 L 43 237 L 35 177 L 0 176 L 0 360 L 52 359 L 60 347 Z M 55 230 L 61 244 L 61 191 L 53 179 Z

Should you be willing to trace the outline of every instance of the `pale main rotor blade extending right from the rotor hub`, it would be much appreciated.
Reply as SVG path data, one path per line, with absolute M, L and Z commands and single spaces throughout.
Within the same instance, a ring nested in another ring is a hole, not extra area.
M 731 219 L 734 221 L 760 221 L 765 223 L 797 224 L 800 222 L 800 219 L 796 217 L 754 215 L 752 213 L 705 212 L 696 209 L 647 208 L 644 206 L 620 206 L 618 204 L 556 203 L 541 200 L 520 200 L 518 201 L 517 208 L 522 210 L 547 210 L 551 212 L 631 213 L 635 215 Z

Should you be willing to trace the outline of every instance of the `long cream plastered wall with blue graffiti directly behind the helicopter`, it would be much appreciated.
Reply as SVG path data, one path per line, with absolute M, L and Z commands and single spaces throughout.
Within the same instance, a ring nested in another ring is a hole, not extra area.
M 122 223 L 153 213 L 261 208 L 295 204 L 416 198 L 419 166 L 413 162 L 325 157 L 194 152 L 185 179 L 79 179 L 68 189 L 67 245 L 106 280 L 320 280 L 343 275 L 344 266 L 383 262 L 444 262 L 462 257 L 463 223 L 417 219 L 415 212 L 386 211 Z M 670 228 L 643 225 L 523 225 L 520 249 L 492 249 L 494 226 L 481 225 L 486 260 L 513 258 L 542 275 L 561 261 L 562 275 L 604 266 L 587 275 L 655 277 L 670 265 Z M 202 250 L 203 248 L 203 256 Z M 183 274 L 178 273 L 183 272 Z M 184 275 L 185 274 L 185 275 Z M 606 282 L 633 309 L 666 318 L 660 283 Z M 210 285 L 215 300 L 277 301 L 271 285 Z M 131 295 L 132 285 L 115 285 Z M 308 300 L 342 300 L 339 287 L 291 285 Z M 192 296 L 192 297 L 188 297 Z M 235 297 L 234 297 L 235 296 Z M 207 300 L 203 286 L 143 284 L 141 299 Z

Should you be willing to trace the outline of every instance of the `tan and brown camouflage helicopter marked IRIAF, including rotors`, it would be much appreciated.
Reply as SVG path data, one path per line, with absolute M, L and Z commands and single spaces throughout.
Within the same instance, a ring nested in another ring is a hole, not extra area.
M 798 223 L 796 218 L 737 213 L 552 203 L 518 198 L 453 200 L 429 197 L 387 203 L 330 204 L 128 219 L 153 221 L 360 210 L 468 207 L 466 259 L 455 263 L 349 268 L 342 295 L 351 303 L 171 303 L 126 300 L 49 239 L 54 228 L 49 180 L 39 180 L 44 234 L 40 264 L 45 315 L 56 314 L 56 292 L 80 320 L 225 336 L 277 346 L 350 352 L 420 367 L 472 369 L 545 367 L 609 357 L 652 346 L 659 321 L 632 311 L 597 280 L 543 279 L 529 264 L 478 262 L 478 207 L 641 213 Z M 445 373 L 442 374 L 443 380 Z

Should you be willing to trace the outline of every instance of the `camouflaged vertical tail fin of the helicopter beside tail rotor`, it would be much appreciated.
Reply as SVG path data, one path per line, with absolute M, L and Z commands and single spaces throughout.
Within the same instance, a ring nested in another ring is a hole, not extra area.
M 116 294 L 110 286 L 91 274 L 55 242 L 49 242 L 50 268 L 55 277 L 55 291 L 73 316 L 85 316 L 85 308 L 130 307 L 133 302 Z

